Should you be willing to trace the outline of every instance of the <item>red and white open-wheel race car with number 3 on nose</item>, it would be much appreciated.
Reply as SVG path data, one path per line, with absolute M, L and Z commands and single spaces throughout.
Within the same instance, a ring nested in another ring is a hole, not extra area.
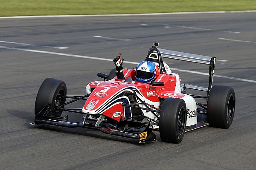
M 208 88 L 182 84 L 179 75 L 171 72 L 163 58 L 209 65 Z M 108 75 L 98 73 L 104 80 L 89 83 L 86 94 L 78 96 L 67 95 L 64 81 L 45 79 L 36 97 L 33 125 L 91 128 L 138 139 L 140 143 L 156 140 L 153 129 L 159 130 L 163 142 L 179 143 L 185 131 L 206 125 L 230 127 L 235 92 L 229 86 L 212 86 L 215 57 L 160 49 L 154 43 L 145 60 L 157 65 L 157 77 L 150 84 L 135 81 L 134 69 L 123 69 L 125 79 L 117 79 L 113 69 Z M 205 95 L 186 94 L 186 89 L 202 91 Z M 197 102 L 198 99 L 204 102 Z M 83 107 L 67 108 L 78 100 L 84 100 Z M 63 111 L 81 113 L 83 121 L 69 122 L 68 115 L 61 115 Z

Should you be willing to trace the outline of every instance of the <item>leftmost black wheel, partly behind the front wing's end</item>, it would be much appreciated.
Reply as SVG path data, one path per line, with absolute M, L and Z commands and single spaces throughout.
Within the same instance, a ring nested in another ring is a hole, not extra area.
M 55 110 L 51 112 L 50 116 L 61 116 L 62 111 L 58 110 L 57 107 L 63 105 L 66 102 L 66 98 L 61 96 L 67 95 L 67 87 L 64 81 L 47 78 L 41 84 L 38 94 L 35 100 L 35 114 L 39 113 L 44 107 L 50 103 L 50 109 Z M 64 108 L 64 106 L 63 106 Z

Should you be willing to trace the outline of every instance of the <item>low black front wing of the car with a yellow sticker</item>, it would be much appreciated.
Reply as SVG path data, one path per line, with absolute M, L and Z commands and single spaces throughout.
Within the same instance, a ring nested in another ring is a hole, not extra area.
M 118 127 L 112 125 L 108 122 L 103 121 L 104 117 L 99 117 L 97 121 L 87 119 L 88 116 L 84 116 L 83 122 L 68 122 L 68 116 L 65 117 L 54 117 L 50 110 L 50 104 L 47 104 L 45 108 L 35 115 L 35 122 L 33 125 L 38 124 L 48 124 L 48 125 L 56 125 L 62 127 L 83 127 L 89 129 L 95 129 L 102 131 L 103 133 L 128 137 L 133 139 L 138 139 L 139 143 L 145 143 L 149 141 L 155 141 L 156 135 L 152 132 L 153 129 L 153 121 L 149 123 L 129 120 L 129 119 L 121 119 Z M 103 116 L 103 115 L 102 115 Z M 99 122 L 99 120 L 101 122 Z

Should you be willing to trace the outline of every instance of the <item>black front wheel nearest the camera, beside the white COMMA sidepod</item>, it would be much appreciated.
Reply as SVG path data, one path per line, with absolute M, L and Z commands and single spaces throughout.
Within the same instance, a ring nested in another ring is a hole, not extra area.
M 183 99 L 167 98 L 160 112 L 159 133 L 163 142 L 180 143 L 186 128 L 186 103 Z

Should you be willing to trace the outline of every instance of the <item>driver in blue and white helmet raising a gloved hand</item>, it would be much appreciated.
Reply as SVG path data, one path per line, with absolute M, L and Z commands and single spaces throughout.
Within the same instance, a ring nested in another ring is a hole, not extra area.
M 118 79 L 125 79 L 122 64 L 124 59 L 121 59 L 121 54 L 119 53 L 117 57 L 113 59 L 116 65 L 116 76 Z M 138 82 L 151 83 L 156 77 L 157 66 L 154 62 L 143 61 L 140 62 L 135 71 L 135 79 Z

